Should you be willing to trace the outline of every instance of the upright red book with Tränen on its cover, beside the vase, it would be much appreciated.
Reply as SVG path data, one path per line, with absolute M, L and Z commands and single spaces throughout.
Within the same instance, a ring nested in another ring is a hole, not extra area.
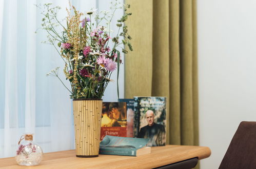
M 106 135 L 127 136 L 126 102 L 103 102 L 101 140 Z

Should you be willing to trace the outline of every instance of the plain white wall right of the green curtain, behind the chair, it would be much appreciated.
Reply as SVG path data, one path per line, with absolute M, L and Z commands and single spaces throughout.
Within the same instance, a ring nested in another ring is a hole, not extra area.
M 198 0 L 200 145 L 218 168 L 241 121 L 256 121 L 256 1 Z

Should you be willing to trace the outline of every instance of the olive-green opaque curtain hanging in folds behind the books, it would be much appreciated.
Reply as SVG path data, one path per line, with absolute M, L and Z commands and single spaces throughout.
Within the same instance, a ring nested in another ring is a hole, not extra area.
M 195 0 L 126 0 L 125 97 L 167 97 L 167 143 L 198 145 Z

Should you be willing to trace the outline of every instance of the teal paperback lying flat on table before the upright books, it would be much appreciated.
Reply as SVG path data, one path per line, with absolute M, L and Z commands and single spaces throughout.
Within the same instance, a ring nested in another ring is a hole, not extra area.
M 141 156 L 151 153 L 151 147 L 145 146 L 149 139 L 116 137 L 106 135 L 100 143 L 100 154 Z

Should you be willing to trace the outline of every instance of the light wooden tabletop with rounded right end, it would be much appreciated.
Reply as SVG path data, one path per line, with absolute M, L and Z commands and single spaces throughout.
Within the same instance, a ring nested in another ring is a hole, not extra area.
M 40 165 L 32 167 L 17 165 L 14 157 L 2 158 L 0 168 L 154 168 L 195 157 L 200 160 L 210 154 L 208 147 L 186 145 L 152 147 L 150 154 L 137 157 L 99 155 L 94 158 L 78 158 L 74 150 L 69 150 L 45 153 Z

